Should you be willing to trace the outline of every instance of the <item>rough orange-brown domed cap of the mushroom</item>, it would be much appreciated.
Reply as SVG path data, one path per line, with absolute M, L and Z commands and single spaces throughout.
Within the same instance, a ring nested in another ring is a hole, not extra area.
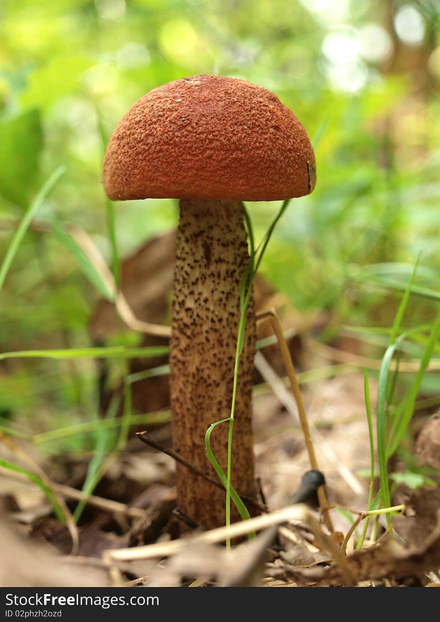
M 104 158 L 113 200 L 273 201 L 314 187 L 314 154 L 296 116 L 245 80 L 200 75 L 155 88 L 119 122 Z

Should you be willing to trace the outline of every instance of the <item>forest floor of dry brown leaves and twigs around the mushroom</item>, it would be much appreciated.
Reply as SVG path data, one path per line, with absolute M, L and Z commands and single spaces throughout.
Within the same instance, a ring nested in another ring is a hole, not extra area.
M 198 534 L 188 539 L 185 547 L 173 548 L 181 542 L 172 540 L 170 527 L 175 522 L 176 506 L 173 458 L 131 437 L 75 527 L 76 555 L 70 555 L 72 531 L 53 517 L 43 491 L 25 478 L 3 473 L 0 498 L 9 519 L 7 523 L 2 519 L 0 532 L 0 583 L 438 585 L 438 488 L 411 491 L 400 485 L 395 489 L 393 503 L 405 504 L 405 511 L 393 519 L 396 539 L 390 534 L 383 537 L 383 527 L 378 524 L 377 538 L 382 530 L 379 543 L 365 539 L 362 551 L 356 553 L 363 522 L 347 537 L 351 522 L 357 518 L 355 512 L 362 513 L 367 507 L 370 445 L 363 382 L 362 373 L 352 371 L 309 383 L 303 392 L 329 503 L 353 511 L 331 510 L 333 534 L 328 534 L 318 514 L 311 510 L 301 510 L 303 514 L 295 516 L 293 509 L 292 519 L 287 521 L 278 517 L 278 510 L 290 506 L 301 476 L 309 469 L 308 454 L 294 406 L 287 404 L 286 409 L 270 385 L 261 384 L 254 397 L 255 459 L 270 513 L 265 515 L 266 529 L 257 540 L 226 551 Z M 374 402 L 374 385 L 371 390 Z M 170 425 L 154 426 L 149 434 L 167 446 Z M 65 490 L 56 490 L 69 499 L 67 487 L 81 488 L 89 459 L 89 455 L 47 457 L 39 467 L 50 481 L 65 486 Z M 75 508 L 71 498 L 68 507 Z M 219 543 L 221 540 L 224 538 Z M 151 545 L 158 543 L 162 549 L 155 553 Z M 122 559 L 113 559 L 111 552 L 121 549 Z M 138 554 L 131 557 L 130 551 L 135 550 Z

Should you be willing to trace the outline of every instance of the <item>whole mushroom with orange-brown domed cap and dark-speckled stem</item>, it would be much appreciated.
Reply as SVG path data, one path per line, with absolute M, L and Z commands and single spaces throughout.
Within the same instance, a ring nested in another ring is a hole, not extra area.
M 311 192 L 309 138 L 265 88 L 228 77 L 181 78 L 147 93 L 121 119 L 107 147 L 103 182 L 112 200 L 180 199 L 170 343 L 173 450 L 195 470 L 216 477 L 204 437 L 231 410 L 239 290 L 249 262 L 241 202 Z M 250 499 L 254 353 L 251 299 L 239 361 L 231 480 Z M 226 472 L 227 425 L 213 430 L 211 447 Z M 183 514 L 204 529 L 224 524 L 224 491 L 181 464 L 176 478 Z M 255 514 L 255 505 L 247 505 Z

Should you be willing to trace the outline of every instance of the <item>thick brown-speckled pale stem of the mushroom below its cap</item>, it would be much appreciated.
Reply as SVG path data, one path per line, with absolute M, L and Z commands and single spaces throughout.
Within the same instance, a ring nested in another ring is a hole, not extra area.
M 248 262 L 240 202 L 180 201 L 170 348 L 173 449 L 196 469 L 214 477 L 204 436 L 209 425 L 231 414 L 239 292 Z M 252 499 L 255 330 L 251 297 L 239 361 L 231 481 L 238 494 Z M 211 447 L 225 473 L 227 429 L 227 424 L 218 425 L 211 435 Z M 177 495 L 181 511 L 199 526 L 213 529 L 224 524 L 224 491 L 183 465 L 177 465 Z M 248 509 L 252 514 L 254 508 Z M 234 508 L 232 517 L 239 519 Z

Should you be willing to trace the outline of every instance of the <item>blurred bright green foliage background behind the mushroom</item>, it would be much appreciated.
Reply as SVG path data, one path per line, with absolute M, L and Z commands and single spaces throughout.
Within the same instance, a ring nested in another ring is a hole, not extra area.
M 1 0 L 1 258 L 48 176 L 60 165 L 66 172 L 2 289 L 0 351 L 96 345 L 90 327 L 102 292 L 60 228 L 86 231 L 111 265 L 106 141 L 140 96 L 198 73 L 274 91 L 313 139 L 316 190 L 291 202 L 262 263 L 298 322 L 319 343 L 380 358 L 419 253 L 419 295 L 403 325 L 432 322 L 440 297 L 439 20 L 438 0 Z M 259 238 L 280 203 L 248 207 Z M 177 223 L 171 200 L 114 210 L 121 258 Z M 101 345 L 141 343 L 135 331 L 102 333 Z M 408 348 L 420 355 L 417 344 Z M 124 375 L 120 363 L 107 382 Z M 424 391 L 438 395 L 438 383 L 428 374 Z M 98 392 L 89 359 L 0 366 L 2 424 L 27 434 L 96 417 Z M 84 443 L 69 437 L 44 451 Z

